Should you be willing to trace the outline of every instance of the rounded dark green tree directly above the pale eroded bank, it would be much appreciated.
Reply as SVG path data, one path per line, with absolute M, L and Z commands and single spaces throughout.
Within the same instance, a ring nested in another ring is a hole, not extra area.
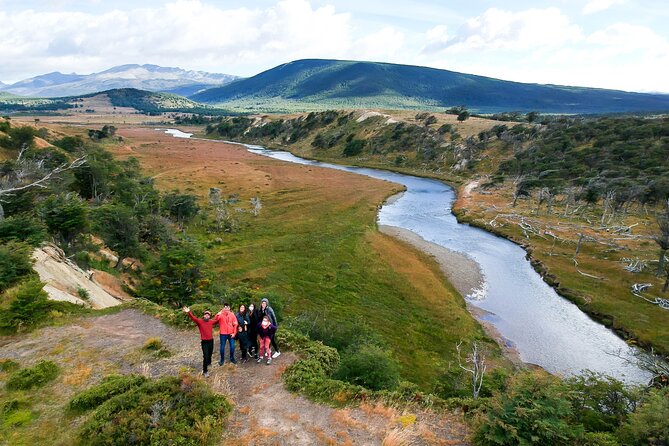
M 51 195 L 39 205 L 37 212 L 49 231 L 66 247 L 88 227 L 88 206 L 75 193 Z

